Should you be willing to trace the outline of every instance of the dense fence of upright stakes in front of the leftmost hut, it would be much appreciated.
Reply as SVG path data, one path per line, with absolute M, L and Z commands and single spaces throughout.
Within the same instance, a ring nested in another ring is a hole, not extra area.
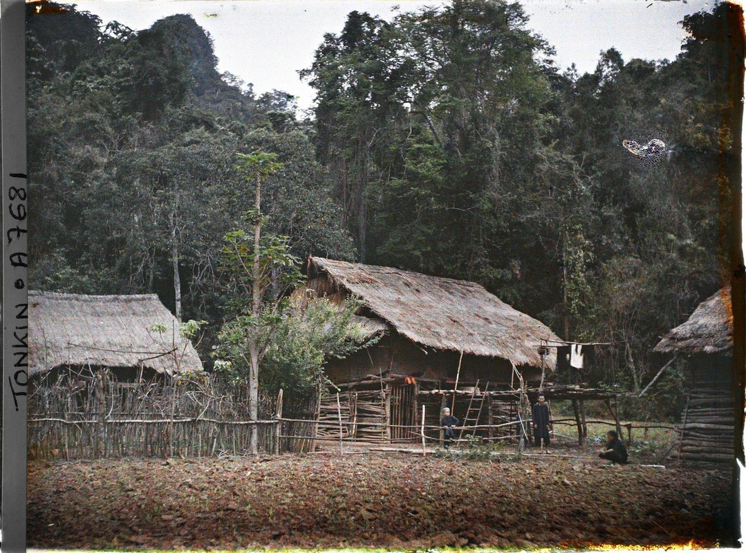
M 260 419 L 251 420 L 245 390 L 214 377 L 118 382 L 105 370 L 38 382 L 29 396 L 29 456 L 72 460 L 240 455 L 250 451 L 254 432 L 260 452 L 283 451 L 277 401 L 261 397 Z M 310 415 L 302 408 L 290 412 Z M 307 440 L 313 437 L 313 425 L 295 425 L 292 431 Z M 284 445 L 290 451 L 304 447 L 287 440 Z

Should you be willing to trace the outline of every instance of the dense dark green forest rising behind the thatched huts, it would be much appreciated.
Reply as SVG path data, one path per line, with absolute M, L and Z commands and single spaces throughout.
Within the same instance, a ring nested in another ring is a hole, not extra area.
M 157 293 L 209 323 L 209 360 L 236 293 L 225 237 L 254 201 L 236 152 L 269 152 L 264 231 L 295 260 L 477 281 L 563 338 L 616 343 L 604 382 L 640 390 L 727 266 L 727 19 L 686 17 L 674 60 L 609 49 L 579 75 L 519 4 L 353 11 L 301 71 L 299 119 L 292 96 L 220 75 L 191 16 L 132 31 L 29 10 L 31 287 Z M 622 147 L 651 139 L 649 163 Z M 679 387 L 671 372 L 651 398 Z

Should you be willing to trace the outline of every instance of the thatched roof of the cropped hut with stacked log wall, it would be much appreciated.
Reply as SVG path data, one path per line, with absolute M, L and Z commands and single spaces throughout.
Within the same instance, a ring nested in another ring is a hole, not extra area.
M 730 287 L 700 303 L 686 322 L 663 337 L 654 352 L 717 353 L 733 348 L 733 304 Z

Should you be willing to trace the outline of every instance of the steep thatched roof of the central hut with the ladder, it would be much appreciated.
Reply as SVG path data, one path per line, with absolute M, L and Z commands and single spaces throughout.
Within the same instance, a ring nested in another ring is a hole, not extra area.
M 326 273 L 399 334 L 433 349 L 541 366 L 539 339 L 560 340 L 548 326 L 474 282 L 323 257 L 310 257 L 309 269 Z M 550 348 L 548 369 L 556 356 Z

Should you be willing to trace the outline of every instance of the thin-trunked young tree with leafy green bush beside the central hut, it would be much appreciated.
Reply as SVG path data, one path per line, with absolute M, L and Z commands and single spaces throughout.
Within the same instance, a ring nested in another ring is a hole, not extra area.
M 216 371 L 248 388 L 249 418 L 258 420 L 260 375 L 273 392 L 283 387 L 303 393 L 325 380 L 322 366 L 329 355 L 350 354 L 377 336 L 355 322 L 357 299 L 335 305 L 307 290 L 291 300 L 289 291 L 304 284 L 300 260 L 290 253 L 288 237 L 262 233 L 262 183 L 282 164 L 263 151 L 239 157 L 237 169 L 254 184 L 254 209 L 244 214 L 241 228 L 225 235 L 222 264 L 233 300 L 214 356 Z M 257 446 L 254 428 L 251 452 Z

